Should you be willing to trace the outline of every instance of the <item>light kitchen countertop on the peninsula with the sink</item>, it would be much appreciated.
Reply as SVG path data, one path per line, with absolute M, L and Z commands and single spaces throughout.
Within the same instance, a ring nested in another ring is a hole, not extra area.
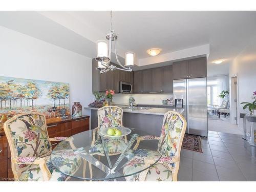
M 84 107 L 87 110 L 98 110 L 99 108 L 91 108 L 89 106 Z M 168 109 L 168 108 L 151 108 L 149 110 L 132 110 L 132 109 L 123 109 L 124 113 L 140 113 L 140 114 L 148 114 L 148 115 L 164 115 L 168 111 L 175 111 L 180 114 L 184 113 L 183 109 Z

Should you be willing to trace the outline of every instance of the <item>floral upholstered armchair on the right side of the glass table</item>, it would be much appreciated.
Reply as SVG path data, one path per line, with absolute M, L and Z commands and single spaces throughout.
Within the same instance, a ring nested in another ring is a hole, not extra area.
M 154 164 L 161 154 L 162 157 L 157 164 L 149 169 L 125 179 L 127 181 L 177 181 L 180 151 L 186 124 L 186 120 L 181 114 L 169 111 L 164 115 L 160 137 L 150 135 L 138 137 L 134 149 L 129 152 L 132 158 L 123 168 L 125 175 Z M 157 151 L 137 150 L 140 141 L 153 139 L 159 140 Z

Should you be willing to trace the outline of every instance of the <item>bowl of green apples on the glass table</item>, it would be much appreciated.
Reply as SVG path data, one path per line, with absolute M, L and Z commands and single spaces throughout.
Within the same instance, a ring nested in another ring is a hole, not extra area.
M 118 127 L 109 127 L 106 129 L 102 129 L 100 134 L 105 137 L 118 138 L 123 137 L 125 135 L 129 135 L 131 133 L 131 129 L 123 126 Z

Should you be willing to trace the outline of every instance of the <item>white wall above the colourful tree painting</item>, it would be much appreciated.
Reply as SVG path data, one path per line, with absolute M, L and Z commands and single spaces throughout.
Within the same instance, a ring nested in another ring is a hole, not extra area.
M 90 58 L 1 26 L 0 76 L 68 82 L 71 106 L 93 101 Z

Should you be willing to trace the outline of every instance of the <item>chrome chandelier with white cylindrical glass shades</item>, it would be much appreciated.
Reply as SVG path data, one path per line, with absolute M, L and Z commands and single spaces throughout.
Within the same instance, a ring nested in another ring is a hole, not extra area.
M 110 12 L 110 22 L 111 27 L 109 33 L 106 35 L 105 40 L 98 40 L 97 41 L 97 57 L 95 58 L 96 61 L 98 61 L 98 67 L 97 69 L 100 70 L 100 73 L 105 73 L 108 71 L 113 71 L 115 69 L 122 70 L 122 71 L 132 71 L 132 68 L 134 67 L 134 53 L 129 51 L 125 53 L 125 65 L 123 66 L 119 59 L 116 52 L 116 39 L 117 35 L 115 34 L 114 30 L 112 29 L 112 11 Z M 114 42 L 112 42 L 114 41 Z M 117 60 L 117 66 L 112 65 L 110 63 L 111 61 L 111 52 L 112 52 L 112 44 L 114 47 L 114 53 L 116 55 Z

